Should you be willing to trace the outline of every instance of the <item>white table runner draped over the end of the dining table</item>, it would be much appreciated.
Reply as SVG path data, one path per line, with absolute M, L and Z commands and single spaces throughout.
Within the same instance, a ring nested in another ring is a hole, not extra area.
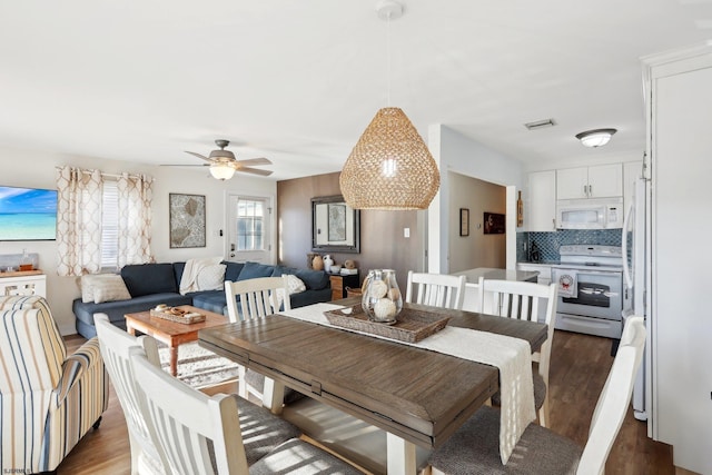
M 279 315 L 496 366 L 500 369 L 500 392 L 502 394 L 500 456 L 502 464 L 507 463 L 524 429 L 536 417 L 532 380 L 532 348 L 528 342 L 488 331 L 446 326 L 418 343 L 406 343 L 329 324 L 324 313 L 339 308 L 345 307 L 333 304 L 315 304 L 280 311 Z

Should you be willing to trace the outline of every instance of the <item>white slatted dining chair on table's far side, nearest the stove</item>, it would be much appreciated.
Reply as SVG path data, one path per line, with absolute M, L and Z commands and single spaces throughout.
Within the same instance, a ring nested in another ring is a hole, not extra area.
M 488 314 L 520 320 L 537 321 L 544 311 L 547 325 L 546 342 L 532 354 L 532 362 L 537 363 L 534 373 L 534 404 L 538 410 L 538 423 L 544 427 L 550 424 L 548 404 L 548 367 L 551 364 L 552 340 L 556 324 L 556 284 L 540 285 L 515 280 L 495 280 L 479 277 L 479 308 Z M 487 303 L 487 305 L 485 305 Z M 500 405 L 500 394 L 492 397 L 494 405 Z

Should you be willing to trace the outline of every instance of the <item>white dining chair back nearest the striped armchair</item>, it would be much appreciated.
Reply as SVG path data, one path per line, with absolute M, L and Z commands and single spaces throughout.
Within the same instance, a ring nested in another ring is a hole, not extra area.
M 165 461 L 154 446 L 146 420 L 140 413 L 138 388 L 129 360 L 129 348 L 138 345 L 137 338 L 111 325 L 106 314 L 95 314 L 93 321 L 101 357 L 123 410 L 129 432 L 131 474 L 167 474 L 169 472 L 165 468 Z M 147 339 L 145 352 L 152 365 L 160 366 L 155 339 Z

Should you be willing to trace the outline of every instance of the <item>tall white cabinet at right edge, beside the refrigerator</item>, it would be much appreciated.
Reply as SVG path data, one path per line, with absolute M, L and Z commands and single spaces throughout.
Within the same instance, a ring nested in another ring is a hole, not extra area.
M 649 434 L 712 474 L 712 42 L 644 59 L 650 137 Z

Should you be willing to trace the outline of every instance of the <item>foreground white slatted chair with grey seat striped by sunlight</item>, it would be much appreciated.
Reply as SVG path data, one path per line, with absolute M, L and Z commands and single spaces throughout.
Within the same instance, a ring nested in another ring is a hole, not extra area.
M 147 338 L 147 337 L 144 337 Z M 171 474 L 359 474 L 354 467 L 316 446 L 300 441 L 289 423 L 235 395 L 206 394 L 191 388 L 152 365 L 144 350 L 129 352 L 139 403 L 154 444 L 159 447 Z M 243 413 L 253 406 L 271 417 L 280 428 L 270 431 Z M 253 427 L 256 426 L 257 428 Z M 286 428 L 286 429 L 284 429 Z M 274 445 L 275 433 L 280 444 Z M 248 447 L 246 437 L 251 437 Z

